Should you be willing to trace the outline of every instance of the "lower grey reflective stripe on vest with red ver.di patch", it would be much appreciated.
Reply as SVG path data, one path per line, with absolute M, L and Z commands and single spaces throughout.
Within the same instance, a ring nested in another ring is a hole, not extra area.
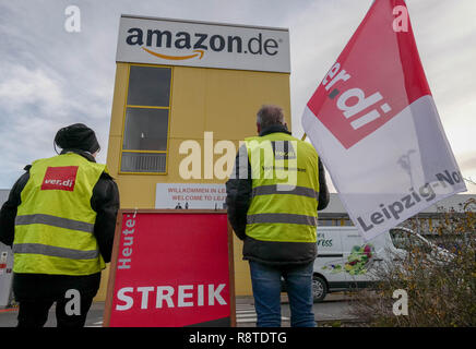
M 80 251 L 57 246 L 49 246 L 40 243 L 16 243 L 13 245 L 13 253 L 34 253 L 51 257 L 62 257 L 70 260 L 94 260 L 99 255 L 99 251 Z

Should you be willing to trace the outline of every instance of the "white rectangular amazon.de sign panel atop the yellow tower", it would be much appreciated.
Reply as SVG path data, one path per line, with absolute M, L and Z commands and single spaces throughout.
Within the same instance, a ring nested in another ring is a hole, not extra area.
M 289 32 L 122 15 L 116 61 L 289 73 Z

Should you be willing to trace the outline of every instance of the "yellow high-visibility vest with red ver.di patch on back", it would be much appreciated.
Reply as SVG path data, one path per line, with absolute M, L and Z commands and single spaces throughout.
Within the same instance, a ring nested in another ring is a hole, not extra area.
M 15 218 L 13 272 L 91 275 L 105 268 L 91 207 L 105 165 L 74 153 L 33 163 Z

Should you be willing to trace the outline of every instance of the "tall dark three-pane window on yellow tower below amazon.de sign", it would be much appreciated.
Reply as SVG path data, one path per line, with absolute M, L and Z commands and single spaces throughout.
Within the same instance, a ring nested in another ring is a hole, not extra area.
M 171 68 L 130 65 L 121 172 L 167 172 L 171 79 Z

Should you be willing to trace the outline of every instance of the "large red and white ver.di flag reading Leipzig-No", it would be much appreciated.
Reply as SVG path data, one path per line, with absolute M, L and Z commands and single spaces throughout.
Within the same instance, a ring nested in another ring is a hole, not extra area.
M 366 240 L 466 191 L 403 0 L 374 1 L 302 127 Z

